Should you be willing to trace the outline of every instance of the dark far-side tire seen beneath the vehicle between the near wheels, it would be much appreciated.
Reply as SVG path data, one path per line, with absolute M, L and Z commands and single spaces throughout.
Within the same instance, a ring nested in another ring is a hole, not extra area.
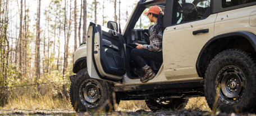
M 162 110 L 178 110 L 184 109 L 186 104 L 188 104 L 188 99 L 173 98 L 168 100 L 148 99 L 145 100 L 148 108 L 152 112 L 162 111 Z

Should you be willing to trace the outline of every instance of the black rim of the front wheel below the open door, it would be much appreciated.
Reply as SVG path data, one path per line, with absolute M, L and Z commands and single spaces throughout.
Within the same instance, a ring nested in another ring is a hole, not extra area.
M 99 104 L 102 97 L 100 85 L 92 80 L 85 80 L 79 88 L 79 98 L 82 103 L 89 108 Z

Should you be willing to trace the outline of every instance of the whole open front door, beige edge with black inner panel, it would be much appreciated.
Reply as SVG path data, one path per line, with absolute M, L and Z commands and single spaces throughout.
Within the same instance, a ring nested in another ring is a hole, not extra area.
M 126 73 L 124 38 L 116 31 L 91 22 L 88 28 L 87 54 L 91 78 L 118 81 Z

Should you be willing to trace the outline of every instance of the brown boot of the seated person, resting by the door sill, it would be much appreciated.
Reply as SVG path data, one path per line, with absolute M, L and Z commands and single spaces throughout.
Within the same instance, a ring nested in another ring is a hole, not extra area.
M 142 70 L 145 72 L 144 76 L 140 78 L 140 81 L 142 83 L 145 83 L 156 76 L 156 74 L 153 72 L 153 70 L 149 66 L 142 68 Z

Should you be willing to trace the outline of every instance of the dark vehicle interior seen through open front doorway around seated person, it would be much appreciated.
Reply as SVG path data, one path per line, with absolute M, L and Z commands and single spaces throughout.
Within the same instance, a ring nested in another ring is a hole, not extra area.
M 132 69 L 140 68 L 136 62 L 134 62 L 131 57 L 130 57 L 130 52 L 132 49 L 136 48 L 135 43 L 139 43 L 141 45 L 149 45 L 150 44 L 150 30 L 154 23 L 150 22 L 147 15 L 144 15 L 144 12 L 147 12 L 151 6 L 157 5 L 159 6 L 162 11 L 164 11 L 164 8 L 166 6 L 166 2 L 161 2 L 161 3 L 154 3 L 154 4 L 148 4 L 143 8 L 143 11 L 141 15 L 139 15 L 139 19 L 136 21 L 136 24 L 134 28 L 130 31 L 129 36 L 127 36 L 128 41 L 127 41 L 127 46 L 126 47 L 126 73 L 131 79 L 138 79 L 139 76 L 134 74 L 134 71 Z M 129 60 L 127 60 L 129 59 Z M 149 61 L 146 60 L 147 64 L 152 68 L 152 70 L 157 74 L 158 70 L 160 69 L 162 62 L 156 62 L 156 61 Z

